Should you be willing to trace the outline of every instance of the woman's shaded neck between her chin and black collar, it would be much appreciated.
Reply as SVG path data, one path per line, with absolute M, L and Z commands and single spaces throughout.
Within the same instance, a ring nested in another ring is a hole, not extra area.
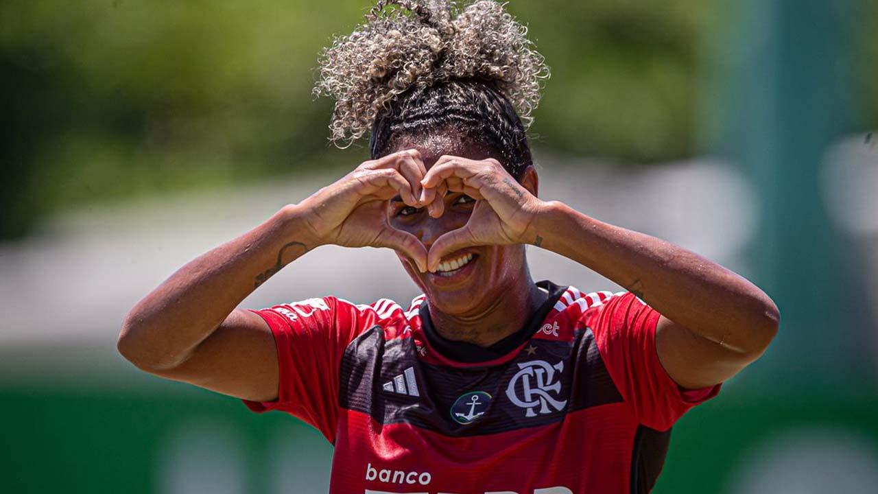
M 490 346 L 521 330 L 548 295 L 536 287 L 527 269 L 516 280 L 500 296 L 490 297 L 486 305 L 465 314 L 449 314 L 430 305 L 435 331 L 451 341 Z

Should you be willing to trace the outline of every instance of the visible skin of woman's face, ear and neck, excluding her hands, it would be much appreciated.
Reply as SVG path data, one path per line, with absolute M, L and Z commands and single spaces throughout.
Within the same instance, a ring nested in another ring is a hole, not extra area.
M 474 159 L 491 156 L 484 147 L 466 142 L 455 134 L 431 135 L 424 145 L 420 140 L 403 138 L 398 148 L 417 149 L 427 170 L 444 155 Z M 523 181 L 536 193 L 536 173 L 530 170 Z M 462 191 L 443 193 L 441 205 L 438 197 L 439 194 L 434 197 L 435 206 L 442 210 L 432 209 L 436 217 L 429 214 L 427 207 L 409 207 L 401 198 L 392 198 L 387 210 L 389 222 L 394 228 L 417 237 L 430 251 L 440 236 L 464 227 L 476 206 L 476 201 Z M 427 295 L 430 316 L 440 335 L 488 346 L 520 330 L 547 295 L 530 277 L 524 245 L 473 244 L 447 252 L 443 258 L 459 258 L 467 253 L 473 255 L 470 265 L 453 278 L 444 278 L 436 272 L 420 272 L 405 255 L 399 254 L 399 260 Z

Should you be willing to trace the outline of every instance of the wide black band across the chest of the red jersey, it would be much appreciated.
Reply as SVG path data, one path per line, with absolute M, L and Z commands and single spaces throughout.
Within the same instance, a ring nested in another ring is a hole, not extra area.
M 476 436 L 507 432 L 560 422 L 574 410 L 622 402 L 604 366 L 588 328 L 575 332 L 573 341 L 531 339 L 536 352 L 519 352 L 514 359 L 493 367 L 444 367 L 426 364 L 418 357 L 411 338 L 385 341 L 384 331 L 374 326 L 357 337 L 344 352 L 340 373 L 339 403 L 348 410 L 369 414 L 382 425 L 407 423 L 446 436 Z M 560 389 L 553 397 L 565 401 L 561 410 L 541 413 L 536 407 L 527 417 L 507 395 L 510 381 L 522 367 L 534 360 L 550 366 L 563 362 L 554 378 Z M 382 383 L 414 370 L 419 396 L 407 396 L 382 389 Z M 451 418 L 451 405 L 459 396 L 483 391 L 493 399 L 485 416 L 469 424 Z

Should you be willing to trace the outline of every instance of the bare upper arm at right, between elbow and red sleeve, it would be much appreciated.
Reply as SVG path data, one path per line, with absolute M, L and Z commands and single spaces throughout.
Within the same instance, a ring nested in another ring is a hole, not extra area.
M 662 367 L 685 389 L 708 388 L 726 381 L 759 357 L 699 336 L 665 316 L 659 317 L 655 338 Z

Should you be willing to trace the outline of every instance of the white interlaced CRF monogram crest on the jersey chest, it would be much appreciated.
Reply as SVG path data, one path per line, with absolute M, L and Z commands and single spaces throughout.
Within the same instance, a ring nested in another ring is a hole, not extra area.
M 556 397 L 561 393 L 560 376 L 564 372 L 564 360 L 559 360 L 554 366 L 545 360 L 531 360 L 518 364 L 518 368 L 520 370 L 509 381 L 506 396 L 516 406 L 527 409 L 525 417 L 536 417 L 534 410 L 546 414 L 553 411 L 551 408 L 564 409 L 567 400 L 558 400 Z

